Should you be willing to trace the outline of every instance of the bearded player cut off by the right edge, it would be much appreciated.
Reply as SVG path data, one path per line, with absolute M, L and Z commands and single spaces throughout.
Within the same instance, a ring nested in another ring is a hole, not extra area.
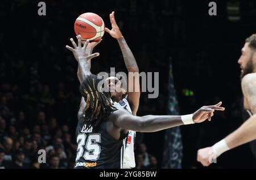
M 209 166 L 227 150 L 256 139 L 256 34 L 246 39 L 238 64 L 241 67 L 243 108 L 251 111 L 251 117 L 218 143 L 198 150 L 197 161 L 204 166 Z

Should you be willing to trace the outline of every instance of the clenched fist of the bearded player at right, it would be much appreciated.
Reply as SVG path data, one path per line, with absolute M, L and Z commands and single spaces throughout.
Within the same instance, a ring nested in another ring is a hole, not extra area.
M 209 166 L 212 162 L 217 159 L 216 153 L 212 147 L 199 149 L 197 151 L 197 161 L 201 162 L 203 166 Z

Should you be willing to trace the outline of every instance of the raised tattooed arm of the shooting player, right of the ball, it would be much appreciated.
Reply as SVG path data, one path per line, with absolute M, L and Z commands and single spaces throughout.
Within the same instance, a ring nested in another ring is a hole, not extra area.
M 129 72 L 127 78 L 127 101 L 131 106 L 131 111 L 133 111 L 133 115 L 136 115 L 139 108 L 139 97 L 141 95 L 139 84 L 139 68 L 133 56 L 133 53 L 131 52 L 131 49 L 128 47 L 125 38 L 123 37 L 121 31 L 119 30 L 119 27 L 117 26 L 117 23 L 115 22 L 114 11 L 109 16 L 112 30 L 105 28 L 105 31 L 108 32 L 112 37 L 117 39 L 118 44 L 121 48 L 123 59 Z

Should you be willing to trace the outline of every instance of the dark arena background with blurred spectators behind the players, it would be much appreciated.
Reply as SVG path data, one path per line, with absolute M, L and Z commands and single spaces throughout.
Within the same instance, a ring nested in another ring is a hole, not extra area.
M 2 0 L 0 6 L 0 167 L 74 167 L 77 111 L 81 94 L 71 45 L 74 22 L 84 12 L 101 16 L 111 28 L 115 19 L 140 72 L 159 72 L 159 96 L 141 94 L 138 116 L 185 115 L 222 101 L 226 108 L 211 122 L 183 125 L 173 131 L 137 133 L 136 168 L 205 168 L 197 150 L 212 146 L 240 127 L 241 48 L 256 32 L 256 1 Z M 94 49 L 91 72 L 126 72 L 117 40 L 105 32 Z M 171 84 L 170 84 L 171 83 Z M 154 85 L 154 83 L 153 83 Z M 168 136 L 171 133 L 172 136 Z M 176 139 L 174 141 L 174 139 Z M 46 150 L 39 164 L 38 150 Z M 22 165 L 16 158 L 24 154 Z M 171 165 L 170 165 L 171 164 Z M 208 168 L 255 168 L 250 144 L 221 155 Z

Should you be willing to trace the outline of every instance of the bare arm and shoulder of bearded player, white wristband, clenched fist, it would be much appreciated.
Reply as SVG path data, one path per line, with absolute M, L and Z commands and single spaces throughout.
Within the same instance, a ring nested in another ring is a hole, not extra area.
M 197 151 L 197 161 L 201 162 L 204 166 L 209 166 L 214 159 L 227 150 L 256 139 L 256 73 L 247 74 L 243 77 L 242 91 L 254 115 L 246 120 L 236 131 L 225 137 L 225 139 L 211 147 Z

